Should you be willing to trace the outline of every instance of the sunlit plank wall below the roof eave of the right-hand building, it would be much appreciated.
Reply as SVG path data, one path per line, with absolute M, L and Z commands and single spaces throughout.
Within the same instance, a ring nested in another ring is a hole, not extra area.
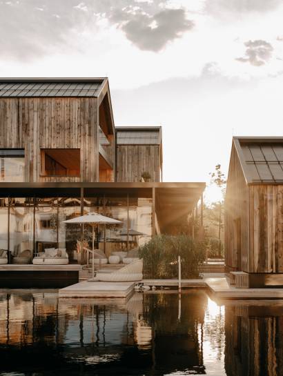
M 251 273 L 283 273 L 283 186 L 250 190 Z

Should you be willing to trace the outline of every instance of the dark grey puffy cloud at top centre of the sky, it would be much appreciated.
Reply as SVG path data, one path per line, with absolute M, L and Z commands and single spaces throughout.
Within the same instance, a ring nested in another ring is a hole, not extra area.
M 186 19 L 184 9 L 164 9 L 153 15 L 138 12 L 118 23 L 118 28 L 137 48 L 153 52 L 162 50 L 168 42 L 181 37 L 193 26 L 193 21 Z

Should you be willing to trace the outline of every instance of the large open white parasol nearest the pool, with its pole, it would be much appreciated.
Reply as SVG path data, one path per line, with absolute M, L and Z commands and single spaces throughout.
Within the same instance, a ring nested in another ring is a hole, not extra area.
M 95 226 L 98 224 L 121 224 L 121 221 L 118 219 L 113 219 L 110 217 L 105 217 L 104 215 L 98 214 L 97 212 L 90 212 L 86 215 L 81 215 L 80 217 L 75 217 L 72 219 L 67 219 L 63 221 L 64 224 L 89 224 L 92 226 L 92 278 L 95 276 Z M 104 239 L 105 241 L 105 239 Z M 100 259 L 99 259 L 99 268 L 100 268 Z

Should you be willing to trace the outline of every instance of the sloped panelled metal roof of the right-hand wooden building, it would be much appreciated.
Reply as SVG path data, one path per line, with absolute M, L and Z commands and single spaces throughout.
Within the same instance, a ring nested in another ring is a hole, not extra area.
M 283 137 L 233 137 L 247 184 L 283 184 Z

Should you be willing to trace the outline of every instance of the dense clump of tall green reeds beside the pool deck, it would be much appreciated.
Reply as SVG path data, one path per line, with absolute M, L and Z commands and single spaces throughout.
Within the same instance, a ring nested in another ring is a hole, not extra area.
M 139 248 L 144 259 L 144 277 L 154 279 L 177 278 L 178 256 L 181 256 L 182 278 L 199 275 L 199 266 L 205 259 L 202 242 L 188 235 L 155 235 Z

